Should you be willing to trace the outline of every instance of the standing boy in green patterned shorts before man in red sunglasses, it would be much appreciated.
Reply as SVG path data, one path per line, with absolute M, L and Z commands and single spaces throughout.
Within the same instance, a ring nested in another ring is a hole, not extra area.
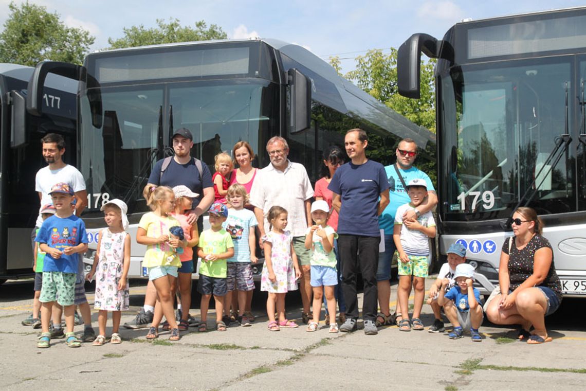
M 407 193 L 411 202 L 397 208 L 393 227 L 393 240 L 397 246 L 399 259 L 397 297 L 401 314 L 403 314 L 399 322 L 400 331 L 411 331 L 411 323 L 414 330 L 424 329 L 423 322 L 419 317 L 425 298 L 425 278 L 427 277 L 427 261 L 430 254 L 428 237 L 435 237 L 435 220 L 431 212 L 423 213 L 417 219 L 403 220 L 402 217 L 407 210 L 415 209 L 421 205 L 427 196 L 425 180 L 411 179 L 407 183 Z M 413 319 L 410 323 L 408 301 L 411 293 L 411 276 L 413 276 L 415 298 L 413 300 Z

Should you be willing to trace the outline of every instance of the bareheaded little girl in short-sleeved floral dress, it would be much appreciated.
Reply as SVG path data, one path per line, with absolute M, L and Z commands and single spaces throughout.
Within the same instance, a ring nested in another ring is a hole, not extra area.
M 301 276 L 301 271 L 291 243 L 291 232 L 285 231 L 287 210 L 281 206 L 272 206 L 268 210 L 267 220 L 270 231 L 263 237 L 264 267 L 260 289 L 268 292 L 268 329 L 279 331 L 281 327 L 298 327 L 297 323 L 285 318 L 285 294 L 297 290 L 297 279 Z M 275 321 L 275 304 L 279 315 L 278 323 Z

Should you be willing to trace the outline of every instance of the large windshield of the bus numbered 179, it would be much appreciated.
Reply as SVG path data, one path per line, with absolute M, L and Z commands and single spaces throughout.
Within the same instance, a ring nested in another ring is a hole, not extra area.
M 539 214 L 575 210 L 571 166 L 546 162 L 566 131 L 566 85 L 568 96 L 576 93 L 570 72 L 571 60 L 558 57 L 453 67 L 440 76 L 447 220 L 509 217 L 533 190 L 527 206 Z

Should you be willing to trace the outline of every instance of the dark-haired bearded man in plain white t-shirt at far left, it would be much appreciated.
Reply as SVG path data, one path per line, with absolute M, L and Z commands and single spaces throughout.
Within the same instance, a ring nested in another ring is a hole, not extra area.
M 47 162 L 47 166 L 41 168 L 35 177 L 35 191 L 39 193 L 40 206 L 52 203 L 49 195 L 51 188 L 56 183 L 68 183 L 75 193 L 75 214 L 81 216 L 81 212 L 87 206 L 87 191 L 86 181 L 81 175 L 81 172 L 72 165 L 66 164 L 63 161 L 63 154 L 65 153 L 65 140 L 59 134 L 49 133 L 41 139 L 43 143 L 43 158 Z M 36 229 L 43 224 L 43 219 L 40 214 L 37 217 L 35 228 L 31 233 L 31 242 L 33 252 L 35 250 L 35 236 Z M 86 342 L 93 341 L 95 337 L 94 329 L 91 327 L 91 310 L 87 302 L 86 291 L 84 290 L 84 272 L 83 272 L 83 254 L 80 254 L 77 267 L 77 280 L 75 288 L 75 305 L 79 307 L 81 317 L 85 324 L 83 340 Z M 61 325 L 61 311 L 59 309 L 53 310 L 53 331 L 52 338 L 62 338 L 63 330 Z

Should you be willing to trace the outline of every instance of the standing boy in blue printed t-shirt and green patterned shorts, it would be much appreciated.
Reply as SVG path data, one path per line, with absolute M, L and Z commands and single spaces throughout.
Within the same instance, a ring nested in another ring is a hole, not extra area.
M 38 348 L 49 348 L 51 333 L 49 319 L 53 302 L 63 306 L 67 327 L 67 346 L 77 348 L 80 341 L 73 334 L 74 297 L 79 253 L 87 250 L 86 226 L 73 214 L 71 202 L 73 189 L 68 183 L 57 183 L 49 193 L 53 200 L 55 215 L 43 222 L 35 238 L 39 250 L 44 251 L 43 282 L 39 301 L 41 307 L 42 333 L 37 342 Z

